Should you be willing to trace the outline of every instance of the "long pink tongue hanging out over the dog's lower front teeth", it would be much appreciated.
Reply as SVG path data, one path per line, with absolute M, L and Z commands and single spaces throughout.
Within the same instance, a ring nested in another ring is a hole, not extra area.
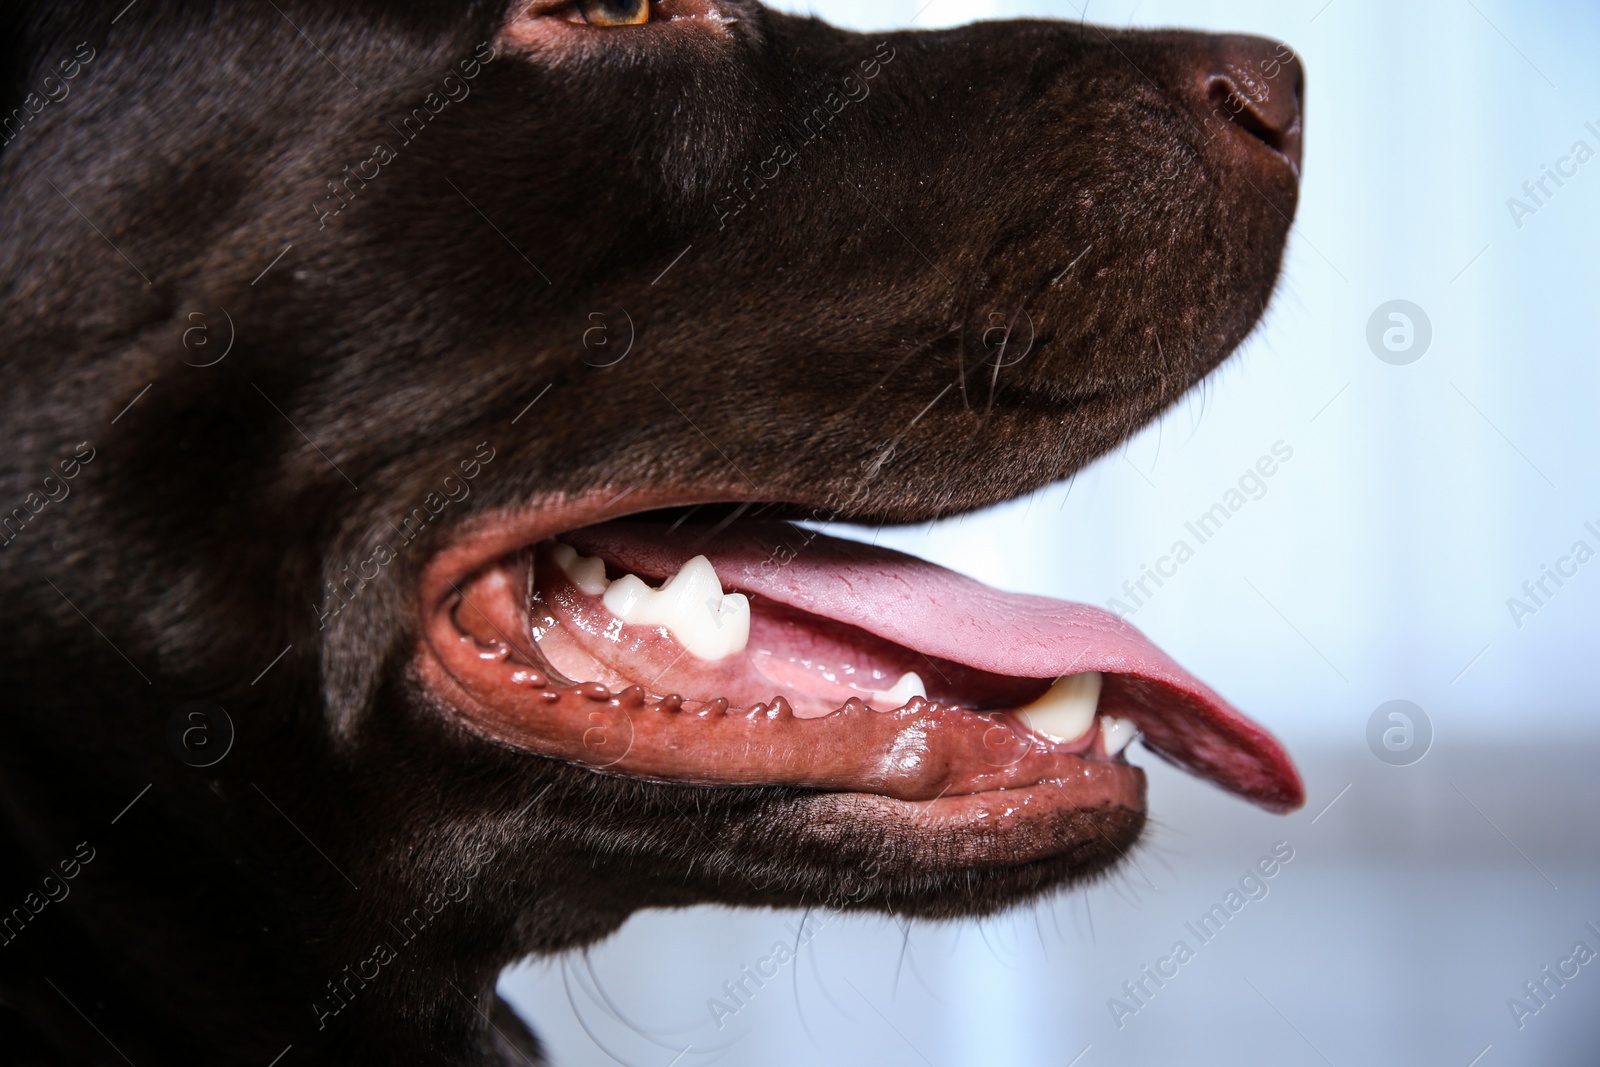
M 618 522 L 560 541 L 654 581 L 706 555 L 728 592 L 758 593 L 992 673 L 1104 672 L 1101 712 L 1138 721 L 1149 749 L 1272 811 L 1306 801 L 1299 773 L 1272 734 L 1099 608 L 1000 592 L 902 552 L 789 523 L 712 533 Z

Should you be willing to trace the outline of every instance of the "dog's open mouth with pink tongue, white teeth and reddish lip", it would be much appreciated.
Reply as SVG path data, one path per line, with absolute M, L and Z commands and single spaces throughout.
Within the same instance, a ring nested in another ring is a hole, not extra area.
M 693 518 L 542 530 L 470 569 L 443 553 L 424 677 L 539 755 L 946 825 L 1142 819 L 1134 737 L 1267 809 L 1304 800 L 1266 729 L 1106 611 L 789 522 Z

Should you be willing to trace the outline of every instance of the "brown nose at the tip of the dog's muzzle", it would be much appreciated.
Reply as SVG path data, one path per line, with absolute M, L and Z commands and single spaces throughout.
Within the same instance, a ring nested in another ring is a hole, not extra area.
M 1245 133 L 1299 174 L 1306 110 L 1299 56 L 1282 42 L 1243 34 L 1208 37 L 1206 45 L 1202 62 L 1206 138 Z

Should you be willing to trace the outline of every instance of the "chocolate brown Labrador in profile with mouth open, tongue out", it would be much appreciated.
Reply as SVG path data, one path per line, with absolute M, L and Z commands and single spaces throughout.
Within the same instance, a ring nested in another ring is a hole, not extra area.
M 528 953 L 1107 870 L 1259 726 L 819 533 L 1059 480 L 1267 306 L 1272 42 L 754 0 L 0 14 L 0 1049 L 536 1062 Z M 277 1059 L 275 1059 L 277 1057 Z

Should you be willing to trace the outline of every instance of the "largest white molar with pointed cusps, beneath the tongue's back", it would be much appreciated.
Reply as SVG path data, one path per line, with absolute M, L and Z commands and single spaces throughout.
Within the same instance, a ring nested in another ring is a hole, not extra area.
M 637 574 L 610 584 L 600 600 L 606 611 L 634 625 L 662 625 L 698 659 L 742 653 L 750 641 L 750 598 L 722 592 L 717 569 L 704 555 L 683 565 L 661 589 Z

